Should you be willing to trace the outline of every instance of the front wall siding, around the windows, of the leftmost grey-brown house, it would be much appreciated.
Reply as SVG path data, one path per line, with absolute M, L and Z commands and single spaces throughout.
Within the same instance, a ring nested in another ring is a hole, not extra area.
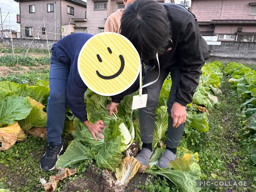
M 26 1 L 20 2 L 20 20 L 21 28 L 34 27 L 34 35 L 37 35 L 37 30 L 41 35 L 41 39 L 46 39 L 46 35 L 43 35 L 41 30 L 44 27 L 42 23 L 43 18 L 45 18 L 45 27 L 48 33 L 47 38 L 50 40 L 55 39 L 55 21 L 54 12 L 47 12 L 47 4 L 56 2 L 56 29 L 57 33 L 61 33 L 60 24 L 60 0 L 40 0 L 40 1 Z M 35 13 L 29 13 L 29 5 L 35 5 Z M 41 27 L 39 28 L 40 24 Z M 22 29 L 22 38 L 33 39 L 33 37 L 26 37 L 25 29 Z M 60 35 L 57 35 L 57 39 L 60 39 Z

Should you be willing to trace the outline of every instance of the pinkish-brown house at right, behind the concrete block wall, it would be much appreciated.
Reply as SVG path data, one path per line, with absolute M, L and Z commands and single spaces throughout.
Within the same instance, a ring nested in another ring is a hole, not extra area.
M 255 0 L 192 0 L 190 11 L 206 41 L 256 42 Z

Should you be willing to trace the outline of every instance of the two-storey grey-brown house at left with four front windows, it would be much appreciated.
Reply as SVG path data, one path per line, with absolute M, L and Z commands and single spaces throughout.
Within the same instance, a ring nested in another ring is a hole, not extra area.
M 86 20 L 86 2 L 82 0 L 14 0 L 20 4 L 17 23 L 21 37 L 59 40 L 75 33 L 75 18 Z

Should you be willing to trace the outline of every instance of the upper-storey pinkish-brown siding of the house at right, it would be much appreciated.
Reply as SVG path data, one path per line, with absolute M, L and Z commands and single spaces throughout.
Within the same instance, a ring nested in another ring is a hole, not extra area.
M 191 12 L 198 21 L 256 19 L 249 15 L 252 0 L 192 0 Z

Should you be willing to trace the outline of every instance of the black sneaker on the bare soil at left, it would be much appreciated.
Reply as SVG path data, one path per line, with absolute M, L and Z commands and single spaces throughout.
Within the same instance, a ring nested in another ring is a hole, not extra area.
M 41 159 L 40 168 L 45 171 L 51 171 L 55 168 L 56 161 L 59 155 L 63 154 L 62 144 L 58 145 L 56 143 L 49 143 L 47 151 Z

